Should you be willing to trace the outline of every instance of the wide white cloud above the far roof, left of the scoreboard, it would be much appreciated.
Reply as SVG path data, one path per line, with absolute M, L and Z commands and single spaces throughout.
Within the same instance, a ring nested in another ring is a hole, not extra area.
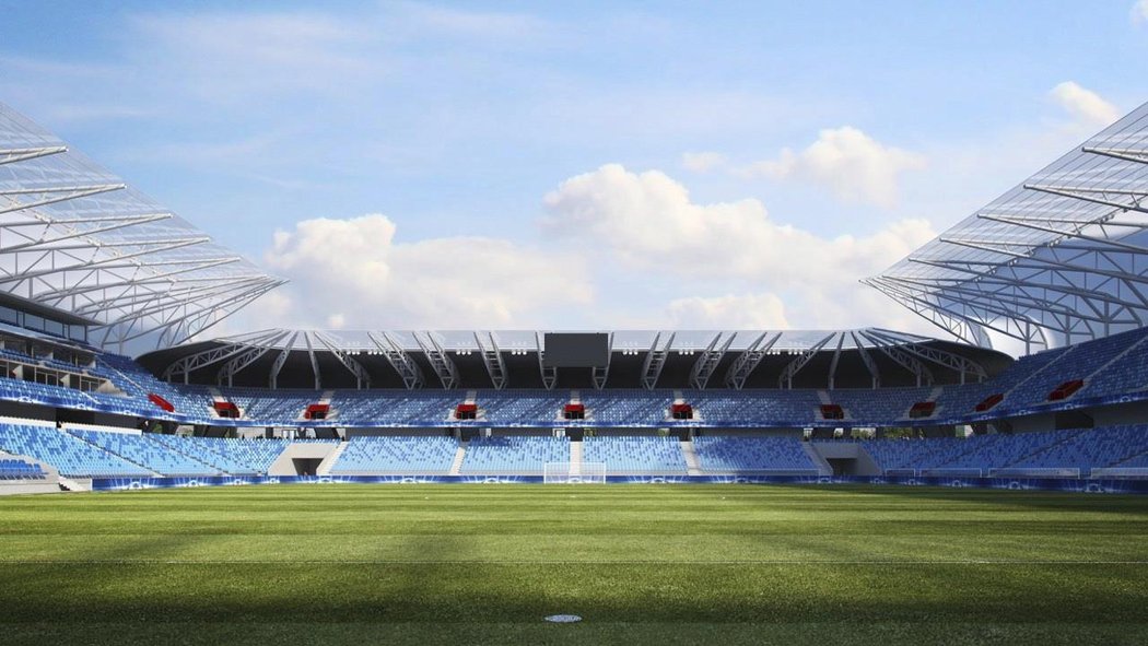
M 487 328 L 542 325 L 549 310 L 592 299 L 581 260 L 567 254 L 478 236 L 396 242 L 395 232 L 381 215 L 277 232 L 264 262 L 292 283 L 270 312 L 351 329 Z

